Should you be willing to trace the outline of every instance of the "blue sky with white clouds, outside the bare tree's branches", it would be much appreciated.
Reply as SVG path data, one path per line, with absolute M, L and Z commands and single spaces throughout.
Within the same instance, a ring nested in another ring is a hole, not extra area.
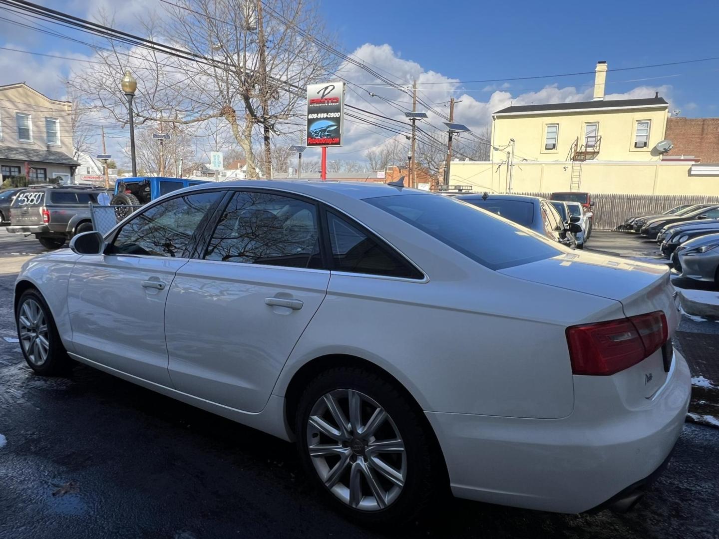
M 104 9 L 115 14 L 116 27 L 131 32 L 137 30 L 139 17 L 150 17 L 152 10 L 162 12 L 159 0 L 37 1 L 85 18 Z M 486 128 L 493 111 L 510 103 L 591 99 L 592 74 L 495 83 L 462 81 L 592 72 L 597 60 L 606 60 L 609 65 L 608 98 L 650 97 L 659 91 L 669 101 L 670 110 L 678 109 L 682 116 L 719 116 L 719 60 L 612 71 L 719 57 L 719 1 L 687 0 L 670 9 L 666 4 L 615 0 L 319 3 L 342 50 L 371 63 L 385 75 L 391 73 L 393 80 L 419 80 L 421 99 L 432 103 L 435 113 L 439 113 L 430 114 L 428 124 L 433 126 L 441 127 L 440 116 L 446 114 L 450 96 L 462 101 L 457 105 L 457 121 L 466 123 L 475 133 Z M 0 17 L 17 20 L 16 15 L 3 9 Z M 60 31 L 72 33 L 68 29 Z M 88 40 L 84 34 L 80 37 Z M 91 51 L 83 45 L 1 19 L 0 47 L 91 57 Z M 60 80 L 70 66 L 78 65 L 81 64 L 70 60 L 0 50 L 0 84 L 26 80 L 50 97 L 63 98 L 65 88 Z M 349 103 L 404 121 L 402 109 L 410 107 L 406 93 L 374 86 L 380 81 L 352 65 L 342 66 L 340 73 L 354 83 L 347 92 Z M 370 92 L 380 97 L 372 97 Z M 441 135 L 439 131 L 434 133 L 438 138 Z M 124 129 L 118 129 L 116 142 L 111 144 L 123 144 L 124 136 Z M 367 124 L 348 123 L 346 144 L 334 152 L 337 158 L 362 159 L 368 148 L 383 144 L 388 136 L 391 134 Z

